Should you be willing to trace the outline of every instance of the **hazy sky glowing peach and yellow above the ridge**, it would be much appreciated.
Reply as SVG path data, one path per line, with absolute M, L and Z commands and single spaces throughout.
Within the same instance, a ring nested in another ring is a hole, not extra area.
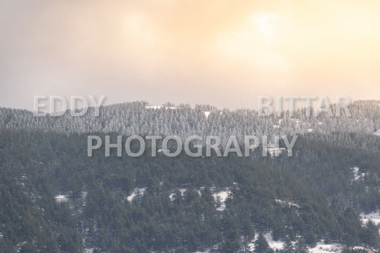
M 0 1 L 1 107 L 380 99 L 380 1 Z

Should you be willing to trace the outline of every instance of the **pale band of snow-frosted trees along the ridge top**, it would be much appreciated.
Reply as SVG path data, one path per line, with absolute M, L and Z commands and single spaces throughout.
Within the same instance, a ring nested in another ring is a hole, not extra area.
M 333 111 L 334 105 L 332 105 Z M 310 109 L 312 112 L 313 108 Z M 123 135 L 294 135 L 297 133 L 356 132 L 374 134 L 380 130 L 380 100 L 356 101 L 349 105 L 351 116 L 330 117 L 319 113 L 307 117 L 306 109 L 293 116 L 289 111 L 281 117 L 259 116 L 256 110 L 217 110 L 211 105 L 151 106 L 145 102 L 120 103 L 100 108 L 96 117 L 93 108 L 81 117 L 69 112 L 60 117 L 34 117 L 28 110 L 0 108 L 0 127 L 13 130 L 43 130 L 58 133 L 117 132 Z M 370 141 L 370 140 L 368 140 Z

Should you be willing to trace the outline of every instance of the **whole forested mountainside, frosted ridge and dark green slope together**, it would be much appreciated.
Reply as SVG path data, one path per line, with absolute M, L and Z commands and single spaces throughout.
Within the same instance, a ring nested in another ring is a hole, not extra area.
M 379 227 L 359 216 L 380 209 L 379 104 L 356 102 L 351 118 L 140 102 L 99 118 L 1 108 L 0 252 L 271 252 L 268 233 L 287 242 L 282 252 L 320 241 L 379 250 Z M 292 157 L 87 156 L 90 134 L 148 133 L 299 138 Z

